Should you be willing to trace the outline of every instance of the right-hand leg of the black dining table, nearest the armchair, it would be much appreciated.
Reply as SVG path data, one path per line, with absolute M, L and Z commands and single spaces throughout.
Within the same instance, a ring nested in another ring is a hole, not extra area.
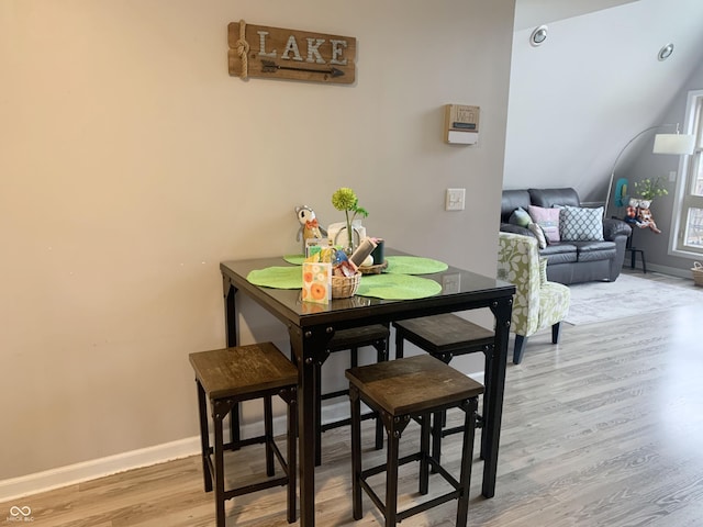
M 503 415 L 503 393 L 505 391 L 505 366 L 507 363 L 507 338 L 510 336 L 510 321 L 513 300 L 505 299 L 494 302 L 491 311 L 495 316 L 495 346 L 491 363 L 490 382 L 488 382 L 488 401 L 491 410 L 486 412 L 486 423 L 482 434 L 486 437 L 486 460 L 483 463 L 484 497 L 495 494 L 495 476 L 498 473 L 498 447 L 501 438 L 501 418 Z

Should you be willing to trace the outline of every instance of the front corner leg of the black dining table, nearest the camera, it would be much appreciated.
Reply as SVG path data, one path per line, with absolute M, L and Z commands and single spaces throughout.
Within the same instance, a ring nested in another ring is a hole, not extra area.
M 289 326 L 291 352 L 298 363 L 298 453 L 300 526 L 315 525 L 315 368 L 326 357 L 334 328 Z

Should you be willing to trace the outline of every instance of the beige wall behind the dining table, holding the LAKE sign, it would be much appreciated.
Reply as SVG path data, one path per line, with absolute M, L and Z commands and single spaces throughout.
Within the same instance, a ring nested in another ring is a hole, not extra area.
M 389 245 L 494 273 L 513 10 L 0 3 L 0 480 L 194 436 L 187 357 L 224 344 L 219 262 L 295 251 L 293 206 L 339 221 L 337 187 Z M 230 77 L 239 19 L 355 36 L 357 82 Z M 477 147 L 443 144 L 449 102 L 481 106 Z M 244 309 L 245 340 L 287 346 Z

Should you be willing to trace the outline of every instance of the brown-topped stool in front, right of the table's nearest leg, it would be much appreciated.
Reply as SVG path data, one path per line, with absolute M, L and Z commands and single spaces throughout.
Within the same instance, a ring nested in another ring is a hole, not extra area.
M 483 393 L 483 385 L 428 355 L 352 368 L 346 377 L 352 402 L 354 519 L 364 516 L 364 490 L 383 514 L 387 527 L 450 500 L 458 501 L 456 525 L 466 527 L 478 396 Z M 366 470 L 361 467 L 361 402 L 379 412 L 388 436 L 387 462 Z M 459 407 L 466 414 L 459 481 L 429 455 L 432 415 L 451 407 Z M 421 425 L 420 451 L 399 459 L 400 437 L 411 419 Z M 420 494 L 428 492 L 429 468 L 454 490 L 398 512 L 398 468 L 411 461 L 420 461 Z M 381 472 L 386 472 L 386 503 L 367 482 L 369 476 Z

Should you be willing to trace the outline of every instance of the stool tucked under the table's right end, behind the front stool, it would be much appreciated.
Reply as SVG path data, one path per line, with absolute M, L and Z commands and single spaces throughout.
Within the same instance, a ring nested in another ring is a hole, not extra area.
M 459 355 L 483 352 L 484 379 L 491 378 L 491 358 L 493 356 L 494 334 L 489 329 L 478 326 L 466 318 L 451 313 L 443 315 L 423 316 L 408 321 L 394 322 L 395 328 L 395 358 L 403 357 L 403 341 L 414 344 L 423 351 L 448 365 Z M 487 390 L 488 391 L 488 390 Z M 483 394 L 483 413 L 489 408 L 489 401 Z M 442 438 L 450 434 L 464 431 L 462 426 L 445 428 L 446 413 L 442 412 L 435 418 L 433 426 L 432 455 L 438 462 L 442 457 Z M 479 416 L 479 428 L 483 426 L 483 417 Z M 481 438 L 481 457 L 486 452 L 483 437 Z

